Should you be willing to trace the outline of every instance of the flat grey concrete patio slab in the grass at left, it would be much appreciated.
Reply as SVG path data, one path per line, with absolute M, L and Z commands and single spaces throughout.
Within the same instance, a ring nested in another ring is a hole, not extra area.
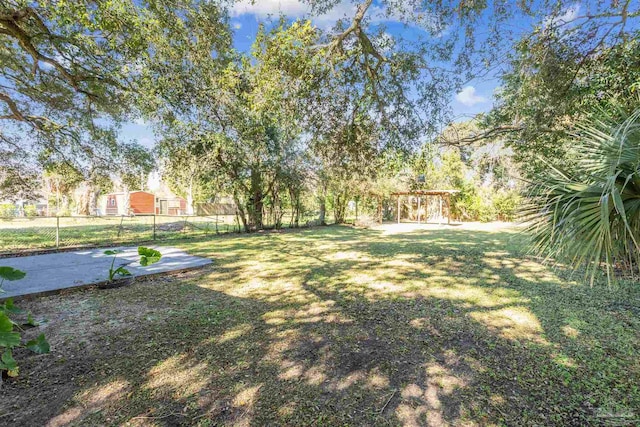
M 17 268 L 27 273 L 22 280 L 5 281 L 5 293 L 0 298 L 37 294 L 59 289 L 73 288 L 104 282 L 108 278 L 113 256 L 105 255 L 107 249 L 120 249 L 114 268 L 124 265 L 134 276 L 164 273 L 201 267 L 211 263 L 208 258 L 187 254 L 185 251 L 168 246 L 151 246 L 162 253 L 155 264 L 142 267 L 138 260 L 137 246 L 103 249 L 83 249 L 73 252 L 59 252 L 0 259 L 0 265 Z

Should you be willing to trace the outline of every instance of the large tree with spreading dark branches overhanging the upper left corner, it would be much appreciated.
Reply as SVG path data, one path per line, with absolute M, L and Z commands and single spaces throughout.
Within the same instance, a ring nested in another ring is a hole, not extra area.
M 21 160 L 3 185 L 24 187 L 53 160 L 91 186 L 126 157 L 119 126 L 137 114 L 147 70 L 171 60 L 166 46 L 195 34 L 187 20 L 206 20 L 200 35 L 216 41 L 228 26 L 221 8 L 190 0 L 0 2 L 0 162 Z

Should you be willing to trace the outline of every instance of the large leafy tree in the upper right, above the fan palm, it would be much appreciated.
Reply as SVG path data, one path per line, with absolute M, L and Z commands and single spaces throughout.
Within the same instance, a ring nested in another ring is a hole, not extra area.
M 497 102 L 481 129 L 443 141 L 503 141 L 528 178 L 548 163 L 573 163 L 576 124 L 595 111 L 629 114 L 640 81 L 637 2 L 558 2 L 548 12 L 509 45 Z

